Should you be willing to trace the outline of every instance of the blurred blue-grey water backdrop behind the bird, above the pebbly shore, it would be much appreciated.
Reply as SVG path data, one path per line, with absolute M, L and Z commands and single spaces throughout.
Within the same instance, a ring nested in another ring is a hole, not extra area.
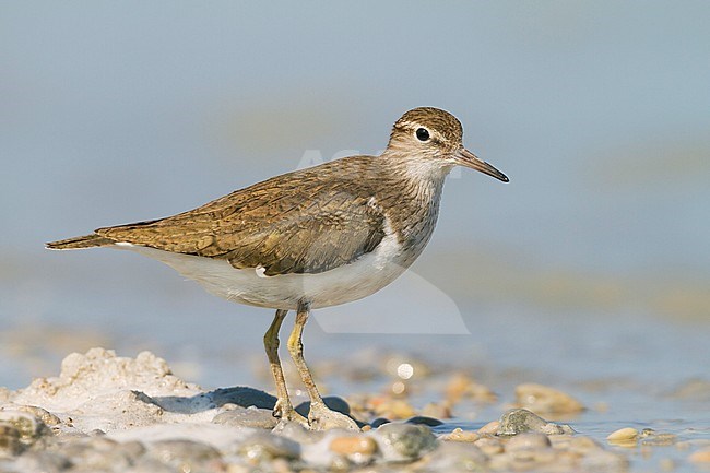
M 416 351 L 671 389 L 710 359 L 710 3 L 0 4 L 0 386 L 90 346 L 256 382 L 271 311 L 138 255 L 45 241 L 377 153 L 454 114 L 511 181 L 455 172 L 412 272 L 316 314 L 307 356 Z

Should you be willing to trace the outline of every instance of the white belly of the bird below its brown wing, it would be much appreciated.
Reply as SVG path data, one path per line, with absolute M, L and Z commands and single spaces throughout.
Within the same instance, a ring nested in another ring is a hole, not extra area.
M 257 307 L 296 309 L 301 300 L 311 308 L 336 306 L 374 294 L 401 275 L 406 267 L 398 263 L 400 246 L 388 235 L 377 249 L 356 261 L 318 274 L 264 276 L 263 270 L 236 269 L 226 260 L 174 253 L 155 248 L 119 243 L 156 259 L 200 283 L 209 293 Z

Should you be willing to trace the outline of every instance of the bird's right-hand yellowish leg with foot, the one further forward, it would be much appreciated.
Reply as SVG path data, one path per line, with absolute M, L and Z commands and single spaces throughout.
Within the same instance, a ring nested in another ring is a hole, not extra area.
M 304 326 L 308 321 L 308 315 L 310 312 L 310 306 L 308 304 L 298 304 L 298 310 L 296 312 L 296 323 L 294 324 L 294 330 L 288 336 L 288 353 L 298 368 L 298 374 L 300 379 L 306 385 L 306 390 L 308 391 L 308 397 L 310 398 L 310 412 L 308 413 L 308 423 L 311 428 L 317 430 L 326 430 L 330 428 L 347 428 L 359 430 L 359 427 L 348 416 L 341 414 L 339 412 L 331 411 L 326 406 L 323 399 L 318 392 L 318 387 L 313 382 L 313 377 L 306 365 L 304 359 L 304 344 L 303 344 L 303 333 Z

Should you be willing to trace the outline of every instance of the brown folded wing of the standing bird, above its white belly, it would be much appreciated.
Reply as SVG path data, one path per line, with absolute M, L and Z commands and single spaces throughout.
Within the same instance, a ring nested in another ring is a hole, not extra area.
M 344 176 L 347 177 L 347 176 Z M 233 192 L 196 210 L 96 233 L 166 251 L 223 258 L 265 275 L 319 273 L 372 251 L 384 215 L 369 192 L 307 169 Z M 351 190 L 345 190 L 345 188 Z

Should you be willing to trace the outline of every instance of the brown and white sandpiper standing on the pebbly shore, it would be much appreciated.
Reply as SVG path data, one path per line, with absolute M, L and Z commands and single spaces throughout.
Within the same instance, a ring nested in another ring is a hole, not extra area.
M 213 295 L 275 310 L 263 336 L 276 389 L 273 415 L 310 429 L 357 429 L 323 402 L 304 358 L 304 327 L 312 309 L 367 297 L 419 257 L 454 166 L 509 181 L 464 147 L 453 115 L 418 107 L 395 121 L 380 155 L 326 162 L 173 216 L 102 227 L 46 247 L 131 250 Z M 279 357 L 279 332 L 291 310 L 296 316 L 287 348 L 310 399 L 307 418 L 293 406 Z

